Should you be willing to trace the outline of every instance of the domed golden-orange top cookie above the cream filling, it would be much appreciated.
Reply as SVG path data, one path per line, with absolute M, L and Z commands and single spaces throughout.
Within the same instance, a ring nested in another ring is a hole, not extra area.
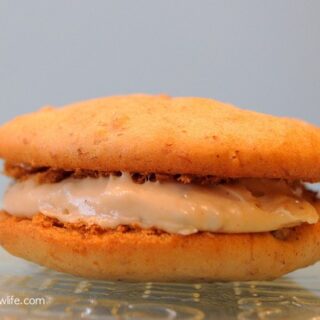
M 17 117 L 0 156 L 63 169 L 320 180 L 320 129 L 203 98 L 129 95 Z

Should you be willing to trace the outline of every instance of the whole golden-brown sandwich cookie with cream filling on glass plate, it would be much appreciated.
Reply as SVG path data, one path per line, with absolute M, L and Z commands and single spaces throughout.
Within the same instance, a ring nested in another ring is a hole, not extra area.
M 0 244 L 79 276 L 273 279 L 320 260 L 320 129 L 203 98 L 47 107 L 0 128 Z

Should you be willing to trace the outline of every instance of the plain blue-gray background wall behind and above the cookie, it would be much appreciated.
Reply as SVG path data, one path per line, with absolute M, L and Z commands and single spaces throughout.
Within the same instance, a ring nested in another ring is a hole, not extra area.
M 0 122 L 165 92 L 320 125 L 319 16 L 318 0 L 0 0 Z

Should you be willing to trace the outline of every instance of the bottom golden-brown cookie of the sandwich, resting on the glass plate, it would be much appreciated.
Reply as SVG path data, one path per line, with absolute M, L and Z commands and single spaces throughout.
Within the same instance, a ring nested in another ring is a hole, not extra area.
M 277 278 L 320 258 L 320 223 L 272 233 L 190 236 L 152 230 L 83 230 L 0 213 L 0 244 L 14 255 L 87 278 L 241 281 Z

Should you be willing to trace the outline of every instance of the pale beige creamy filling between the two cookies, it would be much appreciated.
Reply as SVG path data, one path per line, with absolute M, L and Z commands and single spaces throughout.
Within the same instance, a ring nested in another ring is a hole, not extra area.
M 318 222 L 316 208 L 302 193 L 301 187 L 268 179 L 209 186 L 137 184 L 123 173 L 53 184 L 37 184 L 32 179 L 17 182 L 5 194 L 4 209 L 18 217 L 42 213 L 65 223 L 103 228 L 138 225 L 183 235 L 264 232 Z

